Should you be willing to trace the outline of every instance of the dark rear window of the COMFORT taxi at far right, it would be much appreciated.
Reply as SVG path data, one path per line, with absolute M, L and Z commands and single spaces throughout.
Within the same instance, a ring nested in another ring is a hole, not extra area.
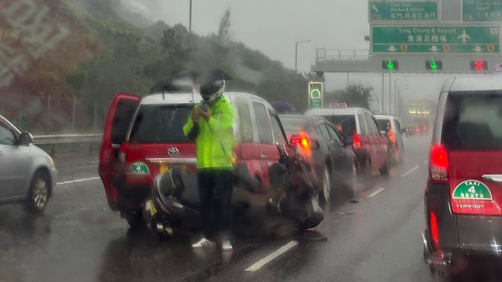
M 450 93 L 442 143 L 449 150 L 502 148 L 502 93 Z

